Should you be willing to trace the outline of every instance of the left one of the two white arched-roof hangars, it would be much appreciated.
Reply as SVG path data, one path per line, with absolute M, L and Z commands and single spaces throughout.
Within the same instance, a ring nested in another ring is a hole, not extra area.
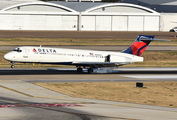
M 41 1 L 0 1 L 0 30 L 77 30 L 79 13 Z

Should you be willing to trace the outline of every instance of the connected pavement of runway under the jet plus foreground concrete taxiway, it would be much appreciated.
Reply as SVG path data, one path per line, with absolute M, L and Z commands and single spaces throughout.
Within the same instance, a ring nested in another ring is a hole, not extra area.
M 76 68 L 1 68 L 0 118 L 1 120 L 177 119 L 177 108 L 73 98 L 31 84 L 33 82 L 177 81 L 177 68 L 118 68 L 112 69 L 112 72 L 88 74 L 77 73 Z

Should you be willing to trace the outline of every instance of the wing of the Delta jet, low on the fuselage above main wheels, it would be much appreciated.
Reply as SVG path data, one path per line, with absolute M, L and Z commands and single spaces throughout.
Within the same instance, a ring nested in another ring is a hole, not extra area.
M 72 64 L 76 66 L 89 66 L 92 68 L 99 68 L 99 67 L 115 67 L 115 66 L 130 64 L 130 63 L 127 63 L 127 62 L 72 62 Z

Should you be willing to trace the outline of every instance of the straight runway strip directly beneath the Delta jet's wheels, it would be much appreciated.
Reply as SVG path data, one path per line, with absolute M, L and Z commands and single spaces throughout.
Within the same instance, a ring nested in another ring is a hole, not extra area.
M 76 68 L 0 68 L 1 80 L 32 82 L 177 81 L 177 68 L 102 68 L 88 74 Z M 150 76 L 150 77 L 148 77 Z

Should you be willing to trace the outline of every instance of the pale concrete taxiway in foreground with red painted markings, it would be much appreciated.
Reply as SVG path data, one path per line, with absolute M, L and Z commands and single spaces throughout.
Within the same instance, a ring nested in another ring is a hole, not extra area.
M 176 120 L 177 108 L 73 98 L 20 80 L 0 81 L 0 103 L 22 107 L 0 108 L 3 119 L 103 119 Z M 77 104 L 80 106 L 32 106 L 31 104 Z M 8 114 L 10 112 L 10 114 Z M 49 114 L 50 113 L 50 114 Z M 48 115 L 48 116 L 47 116 Z M 49 117 L 50 116 L 50 117 Z

